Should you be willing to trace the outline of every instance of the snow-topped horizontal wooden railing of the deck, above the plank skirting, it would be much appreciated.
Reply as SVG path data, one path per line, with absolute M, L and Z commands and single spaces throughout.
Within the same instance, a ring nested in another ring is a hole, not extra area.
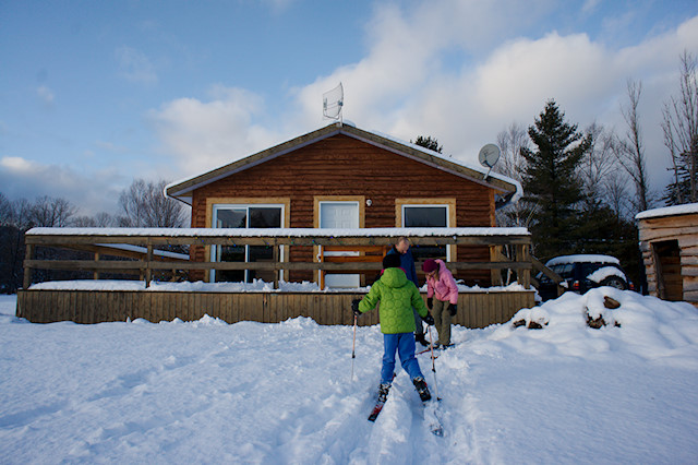
M 495 275 L 501 275 L 501 270 L 508 269 L 517 273 L 519 284 L 530 287 L 531 238 L 526 228 L 34 228 L 25 236 L 24 288 L 32 284 L 34 270 L 92 272 L 94 277 L 98 277 L 100 272 L 135 272 L 143 276 L 146 287 L 152 281 L 153 272 L 168 270 L 318 270 L 333 273 L 378 271 L 382 265 L 375 258 L 326 261 L 326 258 L 322 259 L 322 250 L 385 247 L 401 236 L 409 237 L 414 246 L 486 246 L 490 248 L 489 261 L 453 261 L 448 263 L 448 267 L 490 270 L 493 281 Z M 192 261 L 158 250 L 166 246 L 267 246 L 274 247 L 274 257 L 267 262 Z M 315 261 L 312 262 L 284 261 L 278 246 L 312 246 L 317 248 L 320 254 L 314 253 Z M 501 250 L 505 246 L 514 252 L 513 257 L 502 257 Z M 87 260 L 39 260 L 35 257 L 38 247 L 82 250 L 94 255 Z M 104 254 L 125 257 L 124 249 L 133 260 L 100 260 Z

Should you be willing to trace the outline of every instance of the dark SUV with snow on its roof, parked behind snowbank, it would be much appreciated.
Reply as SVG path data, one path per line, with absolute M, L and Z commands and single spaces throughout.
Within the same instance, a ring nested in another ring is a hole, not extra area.
M 616 289 L 634 290 L 621 262 L 611 255 L 565 255 L 549 260 L 545 266 L 557 273 L 563 281 L 559 285 L 566 290 L 585 294 L 587 290 L 610 286 Z M 557 297 L 557 285 L 542 272 L 535 276 L 540 283 L 538 294 L 541 299 Z

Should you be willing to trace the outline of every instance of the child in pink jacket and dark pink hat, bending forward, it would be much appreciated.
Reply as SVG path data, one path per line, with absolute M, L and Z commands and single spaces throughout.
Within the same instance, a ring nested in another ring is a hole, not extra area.
M 450 319 L 458 311 L 458 286 L 442 260 L 426 260 L 422 271 L 426 275 L 426 307 L 434 317 L 434 326 L 438 332 L 434 347 L 446 348 L 452 345 Z

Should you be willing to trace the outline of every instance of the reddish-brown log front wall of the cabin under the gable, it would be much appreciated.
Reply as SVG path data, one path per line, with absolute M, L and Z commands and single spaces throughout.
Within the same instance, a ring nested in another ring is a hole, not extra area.
M 248 168 L 193 192 L 192 227 L 212 227 L 212 199 L 241 203 L 288 200 L 289 227 L 315 227 L 315 196 L 363 198 L 362 227 L 396 227 L 396 200 L 455 199 L 456 224 L 450 227 L 495 225 L 494 191 L 483 184 L 397 155 L 354 138 L 337 134 Z M 371 206 L 365 200 L 371 200 Z M 275 202 L 277 203 L 277 202 Z M 291 261 L 311 261 L 311 247 L 291 247 Z M 458 261 L 489 261 L 488 247 L 457 248 Z M 192 248 L 192 260 L 204 261 L 204 248 Z M 421 272 L 421 271 L 418 271 Z M 489 271 L 461 271 L 466 284 L 489 286 Z M 312 272 L 293 272 L 289 281 L 312 281 Z

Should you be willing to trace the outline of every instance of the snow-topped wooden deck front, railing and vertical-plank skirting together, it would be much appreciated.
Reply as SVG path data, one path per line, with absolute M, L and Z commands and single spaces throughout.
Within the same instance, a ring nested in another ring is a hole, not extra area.
M 19 293 L 17 314 L 35 322 L 70 320 L 80 323 L 123 321 L 144 318 L 148 321 L 192 320 L 208 313 L 227 322 L 253 320 L 278 322 L 288 318 L 311 317 L 321 324 L 351 324 L 348 313 L 356 291 L 348 293 L 205 293 L 151 291 L 154 271 L 164 270 L 316 270 L 318 272 L 377 272 L 380 255 L 323 260 L 323 248 L 356 247 L 359 250 L 381 248 L 395 238 L 410 237 L 417 246 L 488 246 L 489 262 L 449 262 L 452 270 L 490 270 L 493 282 L 501 271 L 512 269 L 519 284 L 530 289 L 530 235 L 524 228 L 375 228 L 375 229 L 215 229 L 215 228 L 35 228 L 27 231 L 24 262 L 24 290 Z M 160 253 L 163 246 L 267 246 L 274 247 L 274 259 L 266 262 L 196 262 L 181 255 Z M 318 251 L 314 262 L 282 260 L 280 247 L 313 246 Z M 514 258 L 500 253 L 504 246 L 515 251 Z M 36 249 L 67 248 L 94 252 L 94 259 L 37 260 Z M 117 248 L 115 248 L 117 247 Z M 130 260 L 104 260 L 105 253 L 119 254 L 119 249 L 143 248 Z M 362 252 L 363 253 L 363 252 Z M 144 277 L 143 291 L 111 290 L 33 290 L 33 270 L 68 270 L 92 272 L 137 272 Z M 533 291 L 468 293 L 459 297 L 456 324 L 482 327 L 507 321 L 517 310 L 533 306 Z M 375 324 L 377 314 L 365 317 L 362 324 Z

